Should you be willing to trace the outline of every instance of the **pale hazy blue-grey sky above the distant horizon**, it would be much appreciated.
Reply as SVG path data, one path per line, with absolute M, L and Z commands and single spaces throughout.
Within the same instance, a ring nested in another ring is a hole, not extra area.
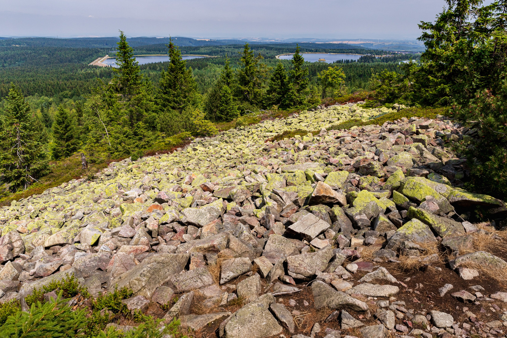
M 0 0 L 0 36 L 414 39 L 443 0 Z

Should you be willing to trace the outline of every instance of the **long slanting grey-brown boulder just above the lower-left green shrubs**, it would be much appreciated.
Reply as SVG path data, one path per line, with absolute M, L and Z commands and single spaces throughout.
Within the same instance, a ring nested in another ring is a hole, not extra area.
M 149 256 L 133 269 L 112 278 L 107 284 L 107 290 L 113 291 L 116 285 L 118 288 L 125 286 L 134 292 L 133 295 L 150 299 L 159 286 L 185 269 L 189 258 L 189 253 L 159 253 Z

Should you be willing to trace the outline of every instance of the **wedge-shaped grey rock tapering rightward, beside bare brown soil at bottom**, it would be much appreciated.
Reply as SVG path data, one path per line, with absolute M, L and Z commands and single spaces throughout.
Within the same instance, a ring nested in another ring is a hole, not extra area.
M 348 294 L 336 291 L 328 284 L 316 280 L 312 283 L 313 300 L 315 309 L 322 309 L 325 307 L 333 309 L 347 308 L 354 311 L 367 311 L 368 304 L 353 298 Z

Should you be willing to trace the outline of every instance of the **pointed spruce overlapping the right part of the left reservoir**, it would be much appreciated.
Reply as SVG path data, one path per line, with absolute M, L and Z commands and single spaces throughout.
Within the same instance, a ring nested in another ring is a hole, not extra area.
M 158 101 L 162 108 L 183 110 L 193 105 L 199 96 L 192 68 L 182 59 L 182 53 L 169 40 L 169 65 L 162 70 L 159 80 Z

